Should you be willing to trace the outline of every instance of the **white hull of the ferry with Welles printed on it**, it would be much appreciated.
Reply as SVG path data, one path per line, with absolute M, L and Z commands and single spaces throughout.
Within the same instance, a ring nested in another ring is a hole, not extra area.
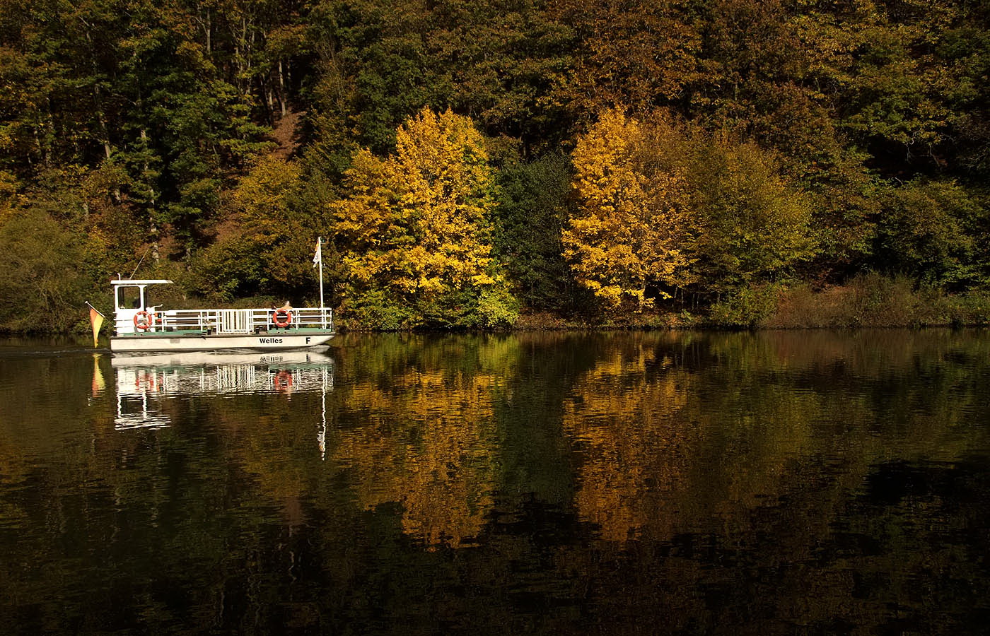
M 326 344 L 334 337 L 326 331 L 318 333 L 270 333 L 270 334 L 145 334 L 113 336 L 110 350 L 129 351 L 214 351 L 220 349 L 247 349 L 269 351 L 280 349 L 304 349 Z

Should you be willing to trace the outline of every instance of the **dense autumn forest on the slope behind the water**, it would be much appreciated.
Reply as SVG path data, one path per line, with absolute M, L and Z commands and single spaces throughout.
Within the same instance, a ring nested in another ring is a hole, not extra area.
M 0 3 L 8 330 L 990 319 L 986 2 Z

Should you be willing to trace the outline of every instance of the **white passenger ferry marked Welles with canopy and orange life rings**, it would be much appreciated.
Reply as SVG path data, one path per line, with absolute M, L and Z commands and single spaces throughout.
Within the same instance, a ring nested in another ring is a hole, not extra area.
M 299 349 L 325 344 L 335 335 L 333 310 L 322 301 L 314 308 L 286 304 L 279 309 L 162 310 L 150 304 L 149 289 L 172 281 L 120 279 L 111 284 L 114 352 Z

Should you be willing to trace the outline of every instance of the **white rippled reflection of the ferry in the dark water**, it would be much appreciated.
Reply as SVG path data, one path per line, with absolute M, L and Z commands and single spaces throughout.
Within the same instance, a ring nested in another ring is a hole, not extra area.
M 115 355 L 111 364 L 117 383 L 114 424 L 118 429 L 168 425 L 161 399 L 318 392 L 326 398 L 334 387 L 334 359 L 312 350 Z

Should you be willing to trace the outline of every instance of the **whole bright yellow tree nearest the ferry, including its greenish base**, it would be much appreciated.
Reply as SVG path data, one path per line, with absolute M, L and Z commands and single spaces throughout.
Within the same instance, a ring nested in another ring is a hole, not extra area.
M 360 150 L 346 176 L 333 213 L 348 309 L 385 327 L 514 319 L 491 257 L 492 168 L 469 119 L 424 109 L 393 154 Z

